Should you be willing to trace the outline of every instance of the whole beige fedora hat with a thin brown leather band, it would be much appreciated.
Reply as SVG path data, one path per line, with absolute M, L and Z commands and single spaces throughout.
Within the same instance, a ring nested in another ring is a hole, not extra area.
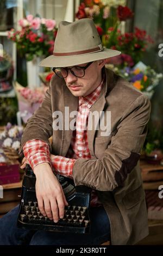
M 53 55 L 43 59 L 39 65 L 61 68 L 114 57 L 120 53 L 103 48 L 92 19 L 61 21 L 54 42 Z

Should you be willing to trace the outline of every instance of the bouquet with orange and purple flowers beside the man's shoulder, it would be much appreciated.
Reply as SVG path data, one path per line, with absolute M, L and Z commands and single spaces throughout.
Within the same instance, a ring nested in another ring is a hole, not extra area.
M 155 87 L 163 77 L 161 73 L 156 73 L 154 69 L 142 62 L 137 63 L 133 68 L 126 66 L 120 69 L 113 64 L 106 64 L 106 68 L 112 69 L 116 74 L 133 83 L 133 86 L 146 94 L 149 99 L 151 99 Z

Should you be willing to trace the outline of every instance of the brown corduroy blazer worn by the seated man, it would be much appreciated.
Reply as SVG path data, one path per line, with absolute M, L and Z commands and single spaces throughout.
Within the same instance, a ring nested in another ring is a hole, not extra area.
M 148 235 L 145 192 L 139 167 L 147 135 L 151 103 L 129 82 L 105 69 L 106 82 L 91 111 L 111 111 L 111 133 L 87 131 L 92 159 L 78 159 L 73 167 L 75 185 L 95 188 L 111 223 L 112 245 L 133 245 Z M 49 144 L 52 154 L 66 156 L 72 131 L 52 129 L 52 113 L 64 107 L 78 109 L 78 97 L 64 80 L 54 76 L 41 107 L 29 119 L 22 147 L 30 139 Z M 73 119 L 73 118 L 72 118 Z M 70 118 L 71 121 L 71 118 Z M 53 138 L 52 145 L 48 138 Z

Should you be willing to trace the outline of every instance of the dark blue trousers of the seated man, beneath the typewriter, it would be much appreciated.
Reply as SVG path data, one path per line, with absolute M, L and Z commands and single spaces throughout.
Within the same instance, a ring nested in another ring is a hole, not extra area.
M 18 206 L 0 219 L 0 245 L 101 245 L 110 239 L 110 222 L 103 206 L 90 209 L 89 234 L 17 228 L 17 215 Z

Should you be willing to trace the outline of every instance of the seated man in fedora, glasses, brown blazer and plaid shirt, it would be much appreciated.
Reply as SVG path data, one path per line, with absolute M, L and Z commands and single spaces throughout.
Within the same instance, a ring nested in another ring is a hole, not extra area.
M 20 244 L 20 234 L 30 245 L 100 245 L 109 239 L 112 245 L 129 245 L 148 235 L 139 158 L 150 102 L 104 68 L 105 59 L 118 54 L 102 47 L 91 19 L 60 22 L 53 56 L 41 62 L 55 67 L 56 75 L 22 137 L 22 167 L 28 161 L 36 175 L 41 213 L 54 222 L 64 216 L 67 202 L 54 168 L 73 178 L 76 186 L 93 189 L 91 234 L 25 233 L 14 224 L 14 209 L 1 220 L 1 243 Z

